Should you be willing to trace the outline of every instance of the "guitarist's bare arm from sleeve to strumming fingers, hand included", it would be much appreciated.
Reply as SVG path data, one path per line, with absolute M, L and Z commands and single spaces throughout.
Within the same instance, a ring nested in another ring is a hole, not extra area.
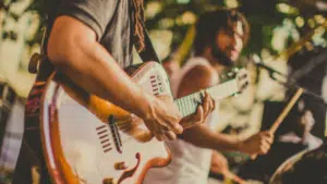
M 180 114 L 172 100 L 145 93 L 96 41 L 95 32 L 82 22 L 59 16 L 48 41 L 50 61 L 78 86 L 146 120 L 155 134 L 181 133 Z M 157 137 L 158 138 L 158 137 Z M 161 137 L 162 138 L 162 137 Z M 159 138 L 160 139 L 160 138 Z M 164 138 L 166 139 L 166 138 Z

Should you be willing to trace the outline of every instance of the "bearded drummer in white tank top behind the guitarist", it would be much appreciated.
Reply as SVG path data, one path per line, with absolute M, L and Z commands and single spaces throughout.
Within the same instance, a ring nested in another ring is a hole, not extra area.
M 174 95 L 183 97 L 217 85 L 219 73 L 234 64 L 247 37 L 247 22 L 235 10 L 218 10 L 201 16 L 194 40 L 195 57 L 186 62 L 179 76 L 174 76 Z M 144 184 L 205 184 L 211 158 L 214 171 L 228 170 L 226 159 L 213 150 L 238 150 L 249 155 L 264 155 L 269 150 L 272 135 L 268 132 L 240 140 L 213 131 L 217 114 L 213 112 L 204 124 L 185 130 L 180 139 L 167 142 L 172 162 L 165 168 L 150 169 Z

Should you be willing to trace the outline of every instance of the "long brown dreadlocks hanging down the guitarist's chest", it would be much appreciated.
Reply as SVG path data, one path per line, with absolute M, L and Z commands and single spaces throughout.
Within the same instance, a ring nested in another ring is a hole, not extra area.
M 143 0 L 132 0 L 133 2 L 133 12 L 134 12 L 134 42 L 138 51 L 142 51 L 145 47 L 144 44 L 144 32 L 143 23 L 145 22 L 144 16 L 144 3 Z

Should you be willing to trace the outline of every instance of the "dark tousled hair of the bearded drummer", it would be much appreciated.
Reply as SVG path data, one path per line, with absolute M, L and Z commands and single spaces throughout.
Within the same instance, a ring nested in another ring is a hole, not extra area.
M 235 9 L 219 9 L 201 15 L 196 23 L 194 38 L 195 54 L 202 54 L 206 47 L 216 44 L 216 35 L 220 29 L 235 32 L 232 27 L 232 23 L 239 21 L 241 21 L 244 32 L 242 39 L 244 45 L 246 45 L 250 35 L 250 26 L 244 15 Z

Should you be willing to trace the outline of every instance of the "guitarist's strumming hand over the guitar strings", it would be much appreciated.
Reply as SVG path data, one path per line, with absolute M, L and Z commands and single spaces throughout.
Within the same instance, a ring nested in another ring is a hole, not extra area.
M 181 113 L 170 96 L 157 96 L 153 98 L 150 112 L 143 118 L 145 125 L 158 140 L 175 139 L 177 134 L 183 132 L 179 124 Z

